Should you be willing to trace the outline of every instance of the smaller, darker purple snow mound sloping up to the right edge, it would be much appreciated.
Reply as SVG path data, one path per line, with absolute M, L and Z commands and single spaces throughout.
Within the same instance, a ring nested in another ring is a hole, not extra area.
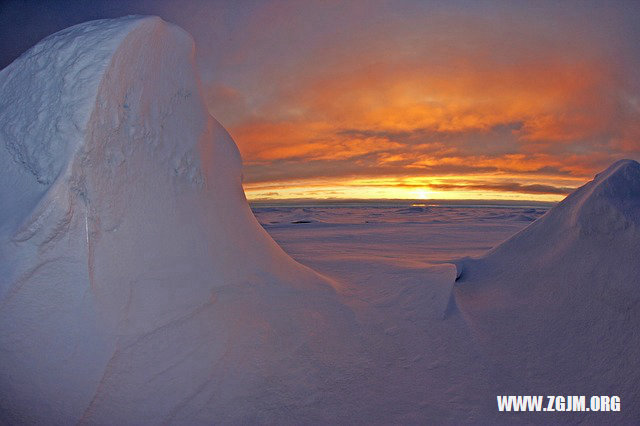
M 619 395 L 621 415 L 638 418 L 638 259 L 640 164 L 622 160 L 458 263 L 457 308 L 505 394 Z

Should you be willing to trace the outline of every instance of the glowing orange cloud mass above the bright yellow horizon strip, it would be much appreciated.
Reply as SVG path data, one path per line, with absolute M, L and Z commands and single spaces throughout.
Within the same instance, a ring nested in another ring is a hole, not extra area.
M 610 162 L 638 157 L 638 93 L 609 46 L 575 23 L 554 39 L 518 22 L 436 23 L 440 33 L 389 24 L 276 68 L 262 96 L 243 93 L 251 107 L 229 129 L 247 188 L 272 183 L 283 196 L 284 183 L 306 182 L 336 194 L 338 182 L 362 190 L 357 179 L 401 187 L 393 179 L 422 177 L 440 195 L 557 199 Z

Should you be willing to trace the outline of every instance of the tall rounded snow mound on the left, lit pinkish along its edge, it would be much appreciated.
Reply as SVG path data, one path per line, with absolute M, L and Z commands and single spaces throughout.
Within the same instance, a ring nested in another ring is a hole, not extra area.
M 41 41 L 0 150 L 0 423 L 278 422 L 347 368 L 353 314 L 255 220 L 180 28 Z

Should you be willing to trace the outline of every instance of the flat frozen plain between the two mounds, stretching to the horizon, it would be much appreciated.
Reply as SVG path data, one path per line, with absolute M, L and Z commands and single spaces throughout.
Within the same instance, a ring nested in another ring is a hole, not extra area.
M 529 225 L 548 207 L 319 202 L 256 203 L 252 209 L 289 255 L 331 275 L 334 263 L 358 259 L 426 266 L 479 256 Z

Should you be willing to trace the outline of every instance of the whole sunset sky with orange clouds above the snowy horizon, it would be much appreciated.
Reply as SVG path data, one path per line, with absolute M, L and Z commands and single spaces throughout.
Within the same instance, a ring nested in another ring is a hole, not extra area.
M 70 25 L 191 33 L 249 199 L 557 201 L 640 160 L 640 2 L 0 1 L 0 66 Z

